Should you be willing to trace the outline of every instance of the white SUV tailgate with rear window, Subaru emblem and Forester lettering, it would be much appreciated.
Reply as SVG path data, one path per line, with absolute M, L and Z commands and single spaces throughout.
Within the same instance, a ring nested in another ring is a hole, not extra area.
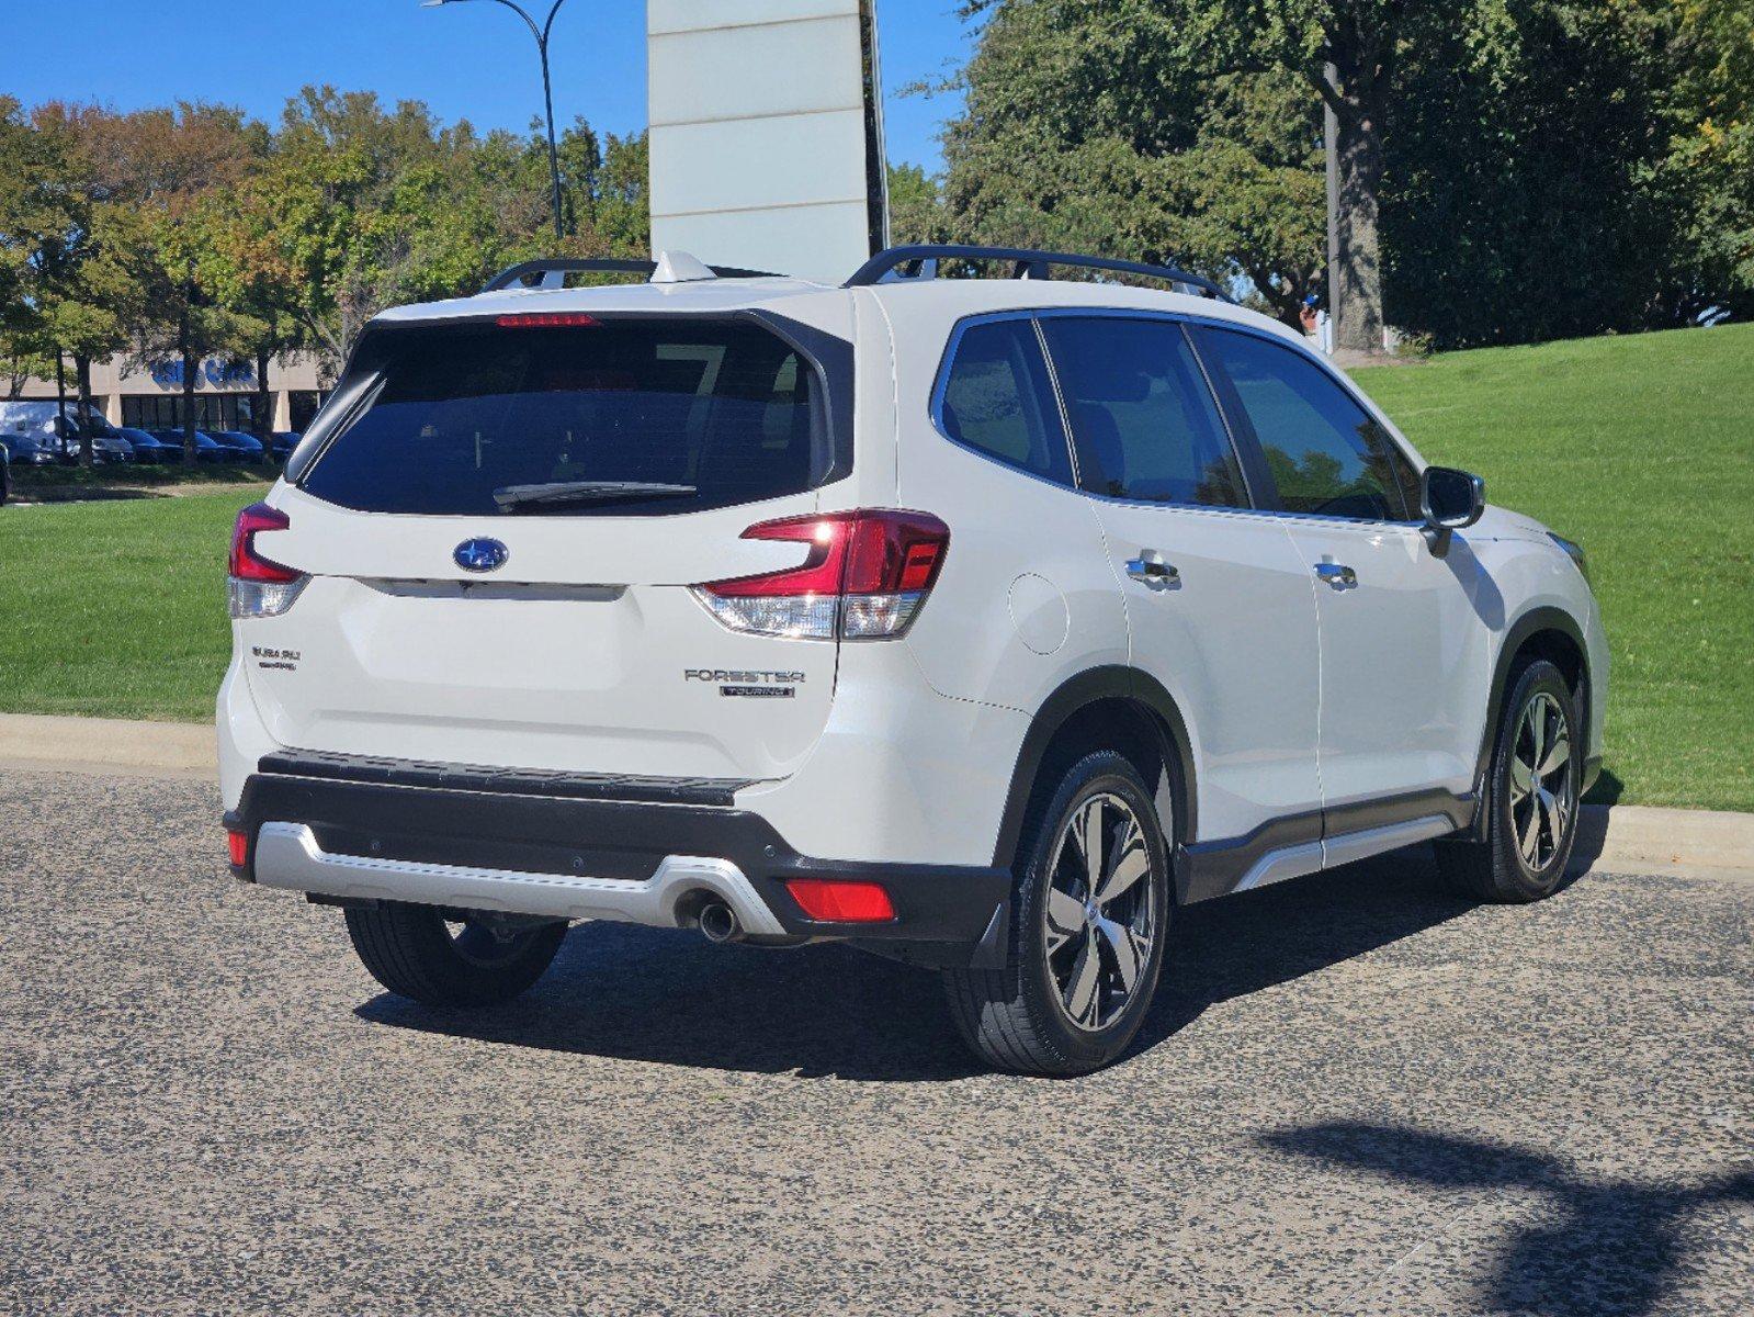
M 379 330 L 363 399 L 258 550 L 310 574 L 240 622 L 282 745 L 661 776 L 791 771 L 835 643 L 738 634 L 691 585 L 798 565 L 742 539 L 845 474 L 828 379 L 752 320 Z M 849 439 L 849 435 L 844 435 Z

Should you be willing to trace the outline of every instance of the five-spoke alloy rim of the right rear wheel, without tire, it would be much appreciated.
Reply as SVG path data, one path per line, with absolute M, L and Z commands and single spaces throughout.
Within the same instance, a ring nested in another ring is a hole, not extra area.
M 1151 845 L 1119 795 L 1093 795 L 1072 811 L 1042 920 L 1059 1010 L 1089 1033 L 1110 1026 L 1133 999 L 1159 932 Z

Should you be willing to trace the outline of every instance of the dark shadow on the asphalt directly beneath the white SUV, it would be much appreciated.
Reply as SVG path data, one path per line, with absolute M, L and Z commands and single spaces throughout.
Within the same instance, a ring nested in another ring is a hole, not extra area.
M 1465 913 L 1426 850 L 1209 901 L 1179 913 L 1158 1003 L 1130 1055 L 1209 1006 L 1324 969 Z M 507 1006 L 431 1010 L 381 994 L 356 1015 L 400 1029 L 581 1055 L 802 1078 L 980 1073 L 935 973 L 845 946 L 714 946 L 696 932 L 582 924 Z

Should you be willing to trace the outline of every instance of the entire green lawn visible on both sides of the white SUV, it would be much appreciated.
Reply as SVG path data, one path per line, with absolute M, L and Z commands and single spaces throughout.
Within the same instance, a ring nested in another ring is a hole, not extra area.
M 1426 457 L 1589 551 L 1614 655 L 1608 794 L 1754 810 L 1754 325 L 1358 378 Z M 0 509 L 0 708 L 209 718 L 226 541 L 254 497 Z

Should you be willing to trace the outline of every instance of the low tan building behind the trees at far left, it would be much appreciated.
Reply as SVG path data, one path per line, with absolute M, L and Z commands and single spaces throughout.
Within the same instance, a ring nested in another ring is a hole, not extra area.
M 67 397 L 79 397 L 72 365 Z M 26 379 L 19 399 L 54 399 L 54 379 Z M 275 358 L 268 367 L 268 428 L 298 430 L 310 423 L 323 400 L 314 358 Z M 165 428 L 182 425 L 182 362 L 154 362 L 128 369 L 112 356 L 91 363 L 91 402 L 111 425 Z M 195 423 L 207 430 L 254 430 L 256 365 L 209 356 L 195 378 Z

